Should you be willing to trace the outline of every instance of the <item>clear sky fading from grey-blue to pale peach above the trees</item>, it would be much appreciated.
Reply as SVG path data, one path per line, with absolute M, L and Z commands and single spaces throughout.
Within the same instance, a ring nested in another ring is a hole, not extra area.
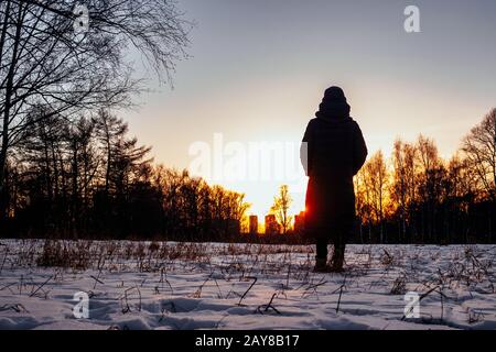
M 214 133 L 242 145 L 298 143 L 331 85 L 344 88 L 370 153 L 386 155 L 396 138 L 423 133 L 449 157 L 496 106 L 494 0 L 177 3 L 197 22 L 192 57 L 177 65 L 174 89 L 148 75 L 153 91 L 123 113 L 166 166 L 187 168 L 190 146 L 212 144 Z M 408 4 L 420 9 L 421 33 L 403 30 Z M 261 216 L 282 182 L 219 183 L 246 193 Z M 301 209 L 302 189 L 293 198 Z

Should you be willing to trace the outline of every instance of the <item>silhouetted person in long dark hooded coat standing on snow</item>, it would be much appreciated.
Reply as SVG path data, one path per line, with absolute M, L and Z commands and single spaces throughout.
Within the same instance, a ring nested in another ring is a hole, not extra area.
M 353 176 L 365 163 L 367 146 L 360 128 L 349 117 L 343 90 L 325 90 L 316 118 L 306 127 L 302 163 L 310 177 L 306 190 L 305 228 L 316 242 L 315 271 L 342 271 L 346 240 L 354 229 Z M 334 243 L 331 266 L 327 244 Z

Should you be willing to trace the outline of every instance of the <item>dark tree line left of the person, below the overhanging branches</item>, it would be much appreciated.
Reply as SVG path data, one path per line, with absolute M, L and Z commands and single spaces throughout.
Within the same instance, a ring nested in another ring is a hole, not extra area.
M 40 112 L 42 113 L 42 112 Z M 7 167 L 6 235 L 222 240 L 239 234 L 244 195 L 153 164 L 106 110 L 40 119 Z

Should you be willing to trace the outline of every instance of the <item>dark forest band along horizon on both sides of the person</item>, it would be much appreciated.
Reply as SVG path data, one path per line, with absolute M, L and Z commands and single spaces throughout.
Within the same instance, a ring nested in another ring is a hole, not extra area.
M 41 113 L 41 112 L 40 112 Z M 355 178 L 356 243 L 494 242 L 496 109 L 443 161 L 434 141 L 398 140 Z M 106 110 L 39 119 L 7 168 L 2 235 L 305 242 L 303 233 L 241 234 L 242 194 L 155 165 L 150 147 Z

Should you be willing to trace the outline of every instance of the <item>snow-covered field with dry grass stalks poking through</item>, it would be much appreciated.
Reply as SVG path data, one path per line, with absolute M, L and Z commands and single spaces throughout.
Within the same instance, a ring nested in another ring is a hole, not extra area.
M 496 246 L 349 245 L 343 274 L 312 273 L 313 256 L 311 246 L 1 240 L 0 329 L 496 329 Z M 80 292 L 87 319 L 73 314 Z M 405 318 L 407 292 L 418 318 Z

